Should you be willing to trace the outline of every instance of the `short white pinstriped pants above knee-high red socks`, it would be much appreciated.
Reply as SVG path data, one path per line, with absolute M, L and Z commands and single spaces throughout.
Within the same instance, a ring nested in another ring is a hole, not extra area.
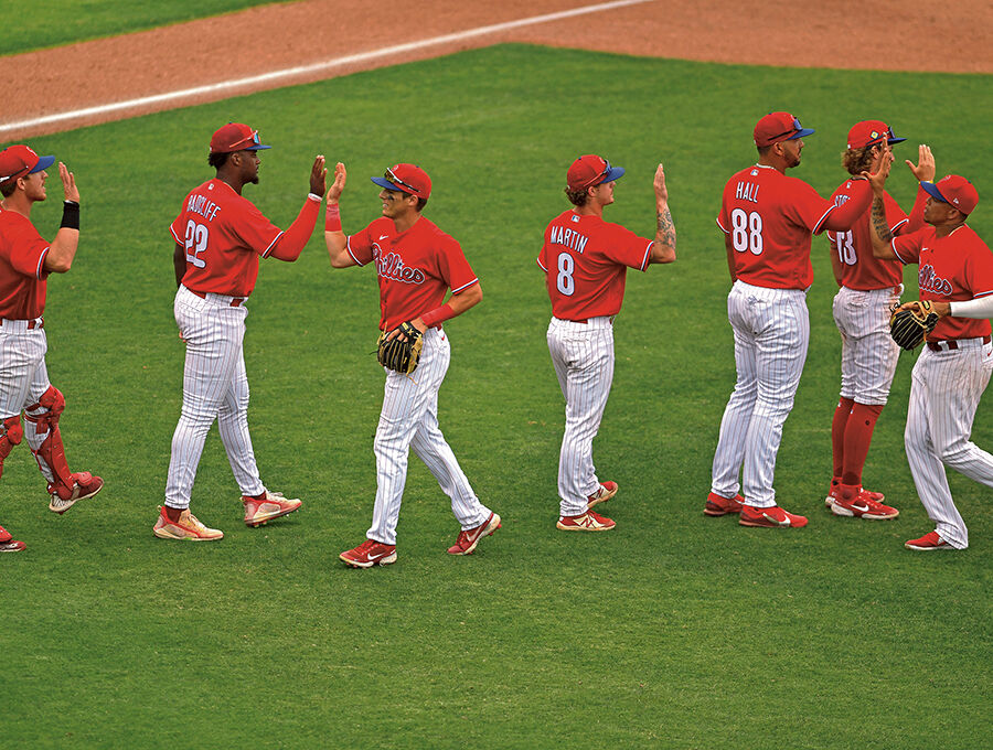
M 834 323 L 842 338 L 841 396 L 885 406 L 900 347 L 889 335 L 889 310 L 899 302 L 893 288 L 858 291 L 842 287 L 834 297 Z

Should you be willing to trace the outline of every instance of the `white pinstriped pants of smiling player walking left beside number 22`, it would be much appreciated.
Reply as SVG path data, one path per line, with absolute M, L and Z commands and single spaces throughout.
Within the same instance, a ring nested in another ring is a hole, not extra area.
M 451 512 L 462 531 L 476 528 L 490 517 L 490 510 L 479 502 L 438 427 L 438 390 L 450 362 L 448 336 L 438 329 L 428 329 L 417 369 L 407 376 L 384 368 L 383 409 L 373 442 L 376 503 L 372 526 L 366 532 L 370 539 L 396 544 L 410 448 L 451 499 Z

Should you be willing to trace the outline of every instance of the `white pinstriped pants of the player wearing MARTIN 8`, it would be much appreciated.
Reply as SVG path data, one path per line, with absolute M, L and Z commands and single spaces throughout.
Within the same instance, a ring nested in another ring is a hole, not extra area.
M 553 318 L 548 352 L 566 399 L 565 432 L 558 453 L 562 515 L 580 515 L 600 482 L 592 462 L 592 440 L 600 429 L 613 383 L 613 318 L 576 323 Z

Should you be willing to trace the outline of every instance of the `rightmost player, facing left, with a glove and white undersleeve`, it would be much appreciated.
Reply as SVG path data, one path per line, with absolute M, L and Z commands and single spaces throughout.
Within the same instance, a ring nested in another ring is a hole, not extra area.
M 904 444 L 917 494 L 936 528 L 908 549 L 965 549 L 969 529 L 952 501 L 946 467 L 993 488 L 993 456 L 969 437 L 980 398 L 993 372 L 993 254 L 965 224 L 979 193 L 949 174 L 922 182 L 930 226 L 897 237 L 886 226 L 886 174 L 872 179 L 872 238 L 876 257 L 917 264 L 920 299 L 940 315 L 914 365 Z M 908 302 L 903 307 L 916 306 Z

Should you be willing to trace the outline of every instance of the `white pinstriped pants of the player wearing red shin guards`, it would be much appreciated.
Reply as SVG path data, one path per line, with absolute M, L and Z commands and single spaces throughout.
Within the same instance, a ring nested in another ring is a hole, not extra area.
M 20 416 L 24 407 L 38 404 L 38 399 L 51 387 L 45 366 L 47 351 L 49 339 L 43 328 L 29 330 L 28 321 L 23 320 L 4 320 L 0 325 L 0 419 Z M 46 411 L 39 408 L 26 414 L 38 417 Z M 23 428 L 24 440 L 33 451 L 41 448 L 49 437 L 49 430 L 39 433 L 30 422 L 23 424 Z M 45 461 L 39 460 L 38 468 L 45 480 L 55 481 Z

